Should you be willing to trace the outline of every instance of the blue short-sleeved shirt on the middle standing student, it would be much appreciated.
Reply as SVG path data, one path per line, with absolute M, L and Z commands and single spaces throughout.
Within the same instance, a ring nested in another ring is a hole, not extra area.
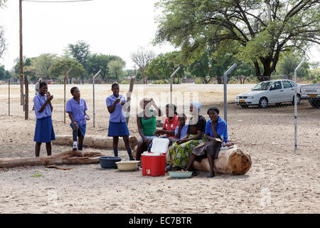
M 87 123 L 87 120 L 85 120 L 85 110 L 87 110 L 87 104 L 82 98 L 80 98 L 79 103 L 75 101 L 74 98 L 67 101 L 67 108 L 65 108 L 65 112 L 72 113 L 73 119 L 80 125 Z

